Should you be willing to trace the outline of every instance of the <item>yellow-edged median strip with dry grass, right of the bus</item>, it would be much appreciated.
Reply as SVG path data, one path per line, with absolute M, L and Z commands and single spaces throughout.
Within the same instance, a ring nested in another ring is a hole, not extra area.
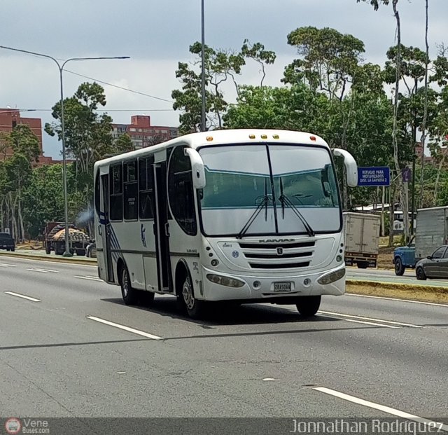
M 448 304 L 448 287 L 346 279 L 346 293 Z

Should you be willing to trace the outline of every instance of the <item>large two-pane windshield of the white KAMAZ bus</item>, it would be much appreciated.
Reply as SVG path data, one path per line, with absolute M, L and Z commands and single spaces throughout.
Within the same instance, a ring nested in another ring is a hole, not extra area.
M 206 174 L 200 200 L 205 235 L 239 235 L 242 228 L 245 236 L 341 230 L 328 149 L 250 144 L 204 147 L 199 153 Z

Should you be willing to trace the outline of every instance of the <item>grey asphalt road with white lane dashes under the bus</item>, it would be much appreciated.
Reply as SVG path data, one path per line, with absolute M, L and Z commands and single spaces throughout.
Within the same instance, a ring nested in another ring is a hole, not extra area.
M 311 320 L 196 322 L 169 297 L 126 307 L 95 266 L 14 257 L 0 288 L 4 416 L 448 417 L 448 305 L 328 296 Z

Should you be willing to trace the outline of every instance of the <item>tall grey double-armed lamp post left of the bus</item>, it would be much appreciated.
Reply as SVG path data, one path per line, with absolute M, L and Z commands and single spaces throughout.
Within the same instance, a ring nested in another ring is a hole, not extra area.
M 62 132 L 62 178 L 64 183 L 64 217 L 65 217 L 65 252 L 63 254 L 64 257 L 71 257 L 72 254 L 70 252 L 69 245 L 69 204 L 67 198 L 67 179 L 66 179 L 66 150 L 65 150 L 65 130 L 64 130 L 64 88 L 62 85 L 62 71 L 67 62 L 71 62 L 71 60 L 103 60 L 103 59 L 130 59 L 129 56 L 117 56 L 117 57 L 71 57 L 71 59 L 65 60 L 62 64 L 59 64 L 57 60 L 49 55 L 43 55 L 42 53 L 35 53 L 34 51 L 28 50 L 20 50 L 19 48 L 11 48 L 0 46 L 0 48 L 4 48 L 5 50 L 13 50 L 19 51 L 20 53 L 27 53 L 29 55 L 35 55 L 40 57 L 48 57 L 57 64 L 57 68 L 59 69 L 59 82 L 61 87 L 61 132 Z

